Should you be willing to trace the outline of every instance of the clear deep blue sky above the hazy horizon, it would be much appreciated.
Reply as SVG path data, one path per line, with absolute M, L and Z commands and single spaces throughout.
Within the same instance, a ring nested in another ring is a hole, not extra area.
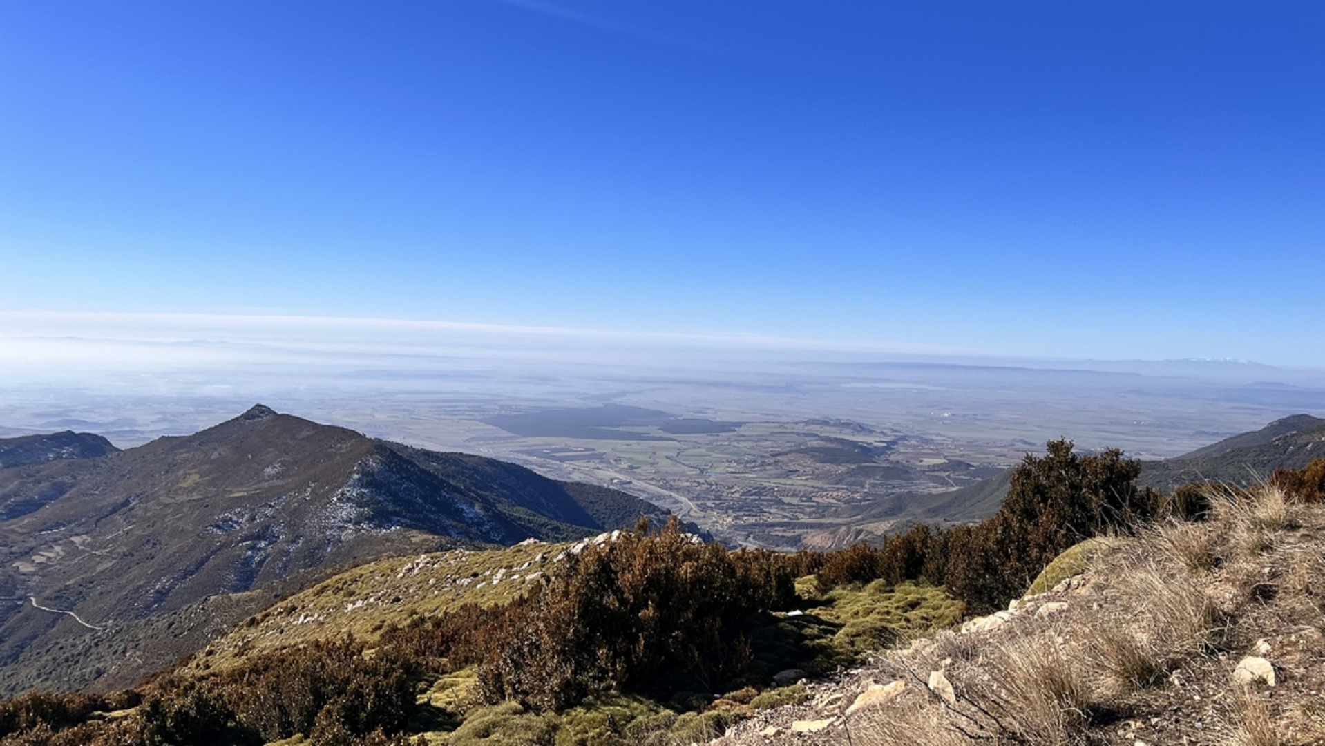
M 0 310 L 1325 367 L 1325 3 L 0 0 Z

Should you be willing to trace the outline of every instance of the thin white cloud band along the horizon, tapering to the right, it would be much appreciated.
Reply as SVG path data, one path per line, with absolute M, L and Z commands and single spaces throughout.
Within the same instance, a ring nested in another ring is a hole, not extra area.
M 280 315 L 0 313 L 0 367 L 152 370 L 219 364 L 417 368 L 444 363 L 607 363 L 669 368 L 742 358 L 929 355 L 937 348 L 759 335 L 621 333 L 409 319 Z

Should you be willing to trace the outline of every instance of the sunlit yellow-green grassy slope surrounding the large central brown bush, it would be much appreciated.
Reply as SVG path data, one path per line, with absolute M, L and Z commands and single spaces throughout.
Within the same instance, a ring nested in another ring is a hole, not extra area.
M 603 537 L 607 538 L 607 537 Z M 384 629 L 404 627 L 462 604 L 496 607 L 543 583 L 570 554 L 591 542 L 452 550 L 382 559 L 335 575 L 237 625 L 180 670 L 207 676 L 264 652 L 352 635 L 370 645 Z M 681 693 L 668 701 L 637 694 L 599 697 L 559 713 L 514 702 L 485 705 L 473 668 L 417 682 L 411 731 L 428 743 L 690 743 L 719 735 L 750 714 L 804 698 L 798 684 L 778 686 L 787 669 L 823 674 L 865 653 L 959 620 L 962 607 L 942 588 L 882 582 L 816 592 L 814 576 L 796 583 L 799 610 L 754 615 L 746 623 L 750 674 L 726 693 Z M 297 741 L 293 741 L 297 742 Z

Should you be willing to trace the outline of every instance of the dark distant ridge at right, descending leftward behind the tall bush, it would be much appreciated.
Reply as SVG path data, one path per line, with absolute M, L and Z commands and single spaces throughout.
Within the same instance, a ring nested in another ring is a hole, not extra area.
M 1325 457 L 1325 419 L 1293 415 L 1253 432 L 1163 461 L 1143 461 L 1140 484 L 1161 490 L 1194 480 L 1251 485 L 1279 468 L 1301 468 Z M 1012 469 L 965 488 L 941 493 L 902 492 L 836 509 L 828 519 L 837 527 L 807 534 L 806 546 L 828 549 L 877 539 L 914 523 L 965 523 L 992 515 L 1007 497 Z M 859 530 L 868 526 L 869 530 Z

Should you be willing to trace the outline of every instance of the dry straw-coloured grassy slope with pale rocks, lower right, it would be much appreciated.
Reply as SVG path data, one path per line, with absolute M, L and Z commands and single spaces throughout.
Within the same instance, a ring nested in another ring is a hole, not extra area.
M 721 743 L 765 743 L 791 718 L 823 718 L 820 742 L 853 746 L 1322 743 L 1325 501 L 1300 486 L 1322 468 L 1212 489 L 1203 521 L 1077 546 L 1053 564 L 1080 574 L 896 647 L 833 697 L 902 682 L 885 705 L 847 714 L 818 690 L 818 712 L 768 714 Z

